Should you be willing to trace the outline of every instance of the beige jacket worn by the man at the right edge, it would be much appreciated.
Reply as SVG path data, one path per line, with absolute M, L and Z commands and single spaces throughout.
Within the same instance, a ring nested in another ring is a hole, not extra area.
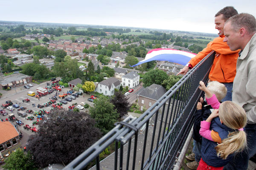
M 256 34 L 237 59 L 232 101 L 244 108 L 247 123 L 256 123 Z

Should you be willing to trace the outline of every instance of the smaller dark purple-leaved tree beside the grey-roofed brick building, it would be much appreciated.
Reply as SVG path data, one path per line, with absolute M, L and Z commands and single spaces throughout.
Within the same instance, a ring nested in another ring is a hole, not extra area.
M 116 109 L 117 113 L 119 114 L 118 119 L 121 119 L 123 116 L 128 115 L 128 111 L 131 105 L 121 91 L 115 91 L 114 97 L 111 99 L 110 102 L 113 103 L 113 105 L 115 106 L 114 109 Z

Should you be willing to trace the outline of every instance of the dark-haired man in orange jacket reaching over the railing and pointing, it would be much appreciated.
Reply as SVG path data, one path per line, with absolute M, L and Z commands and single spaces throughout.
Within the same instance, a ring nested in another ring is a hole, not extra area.
M 231 51 L 224 40 L 224 23 L 233 15 L 238 14 L 233 6 L 227 6 L 215 15 L 215 29 L 219 31 L 219 37 L 207 44 L 203 51 L 199 52 L 189 63 L 177 74 L 186 74 L 189 68 L 195 67 L 212 50 L 216 52 L 215 59 L 209 73 L 210 81 L 223 83 L 227 88 L 227 95 L 222 101 L 232 101 L 233 80 L 236 76 L 236 60 L 240 50 Z

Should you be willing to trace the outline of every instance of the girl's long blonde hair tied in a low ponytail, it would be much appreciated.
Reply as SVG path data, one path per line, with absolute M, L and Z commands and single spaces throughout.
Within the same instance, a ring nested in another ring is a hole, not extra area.
M 238 129 L 246 125 L 247 117 L 243 108 L 230 101 L 221 103 L 218 113 L 224 125 L 230 129 L 236 129 L 215 147 L 217 155 L 226 159 L 231 153 L 239 152 L 246 147 L 246 134 Z

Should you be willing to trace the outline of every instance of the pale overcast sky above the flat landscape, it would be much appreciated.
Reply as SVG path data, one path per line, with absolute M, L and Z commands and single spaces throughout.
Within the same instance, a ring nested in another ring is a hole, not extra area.
M 256 0 L 0 0 L 0 20 L 218 33 L 225 6 L 256 17 Z

